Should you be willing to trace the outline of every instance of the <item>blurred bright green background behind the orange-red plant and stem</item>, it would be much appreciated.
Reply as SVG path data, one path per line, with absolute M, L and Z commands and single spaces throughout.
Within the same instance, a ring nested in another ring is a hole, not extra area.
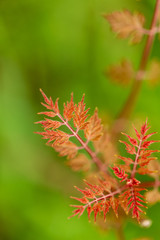
M 0 0 L 0 239 L 88 240 L 115 239 L 84 214 L 68 220 L 69 198 L 81 176 L 45 146 L 34 125 L 43 110 L 42 88 L 60 104 L 74 92 L 75 102 L 86 94 L 87 106 L 97 106 L 109 122 L 129 93 L 104 76 L 106 66 L 130 59 L 137 67 L 144 42 L 129 46 L 117 40 L 102 17 L 120 9 L 145 14 L 148 26 L 155 0 Z M 160 58 L 156 39 L 152 57 Z M 133 118 L 149 118 L 160 131 L 160 86 L 144 83 Z M 92 112 L 91 111 L 91 112 Z M 126 239 L 160 239 L 159 204 L 148 210 L 153 225 L 125 226 Z

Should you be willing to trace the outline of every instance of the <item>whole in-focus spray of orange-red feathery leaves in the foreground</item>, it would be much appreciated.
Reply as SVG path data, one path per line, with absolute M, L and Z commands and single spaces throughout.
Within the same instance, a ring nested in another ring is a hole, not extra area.
M 77 157 L 78 150 L 83 148 L 88 152 L 91 160 L 93 160 L 99 170 L 104 173 L 104 179 L 99 178 L 98 183 L 92 184 L 85 181 L 87 187 L 84 190 L 76 187 L 83 197 L 72 197 L 80 202 L 79 205 L 72 205 L 75 207 L 72 217 L 75 215 L 81 216 L 85 209 L 88 212 L 89 219 L 91 212 L 94 213 L 95 221 L 97 214 L 101 213 L 103 213 L 105 219 L 110 209 L 118 216 L 118 206 L 120 205 L 127 214 L 131 213 L 133 218 L 140 221 L 141 214 L 144 213 L 142 208 L 146 208 L 146 201 L 143 196 L 143 192 L 146 189 L 141 187 L 141 182 L 137 179 L 137 173 L 154 173 L 148 168 L 148 164 L 156 159 L 152 157 L 151 154 L 158 152 L 158 150 L 150 150 L 148 148 L 151 144 L 158 141 L 148 139 L 156 132 L 147 134 L 150 127 L 148 127 L 146 121 L 140 131 L 134 128 L 136 138 L 123 133 L 129 143 L 125 141 L 120 142 L 125 145 L 126 151 L 131 154 L 131 157 L 117 156 L 124 164 L 114 164 L 114 166 L 109 166 L 107 169 L 106 165 L 101 162 L 101 159 L 97 157 L 94 150 L 88 145 L 90 141 L 94 142 L 99 140 L 103 134 L 97 109 L 93 116 L 88 119 L 89 109 L 86 109 L 84 95 L 82 100 L 78 104 L 75 104 L 73 94 L 71 94 L 70 102 L 64 104 L 62 116 L 58 107 L 58 99 L 53 103 L 52 99 L 48 98 L 42 90 L 41 93 L 45 101 L 42 105 L 49 111 L 41 112 L 40 114 L 50 118 L 56 117 L 56 119 L 44 118 L 44 120 L 37 122 L 40 123 L 44 129 L 43 132 L 38 132 L 38 134 L 42 135 L 44 139 L 47 139 L 47 143 L 59 152 L 60 156 L 67 156 L 67 158 L 70 159 L 69 165 L 72 167 L 73 164 L 73 169 L 89 169 L 86 156 L 84 159 L 81 153 Z M 72 126 L 72 123 L 74 126 Z M 67 127 L 70 133 L 60 129 L 61 126 Z M 80 130 L 84 132 L 84 139 L 79 135 Z M 75 137 L 79 141 L 79 145 L 70 140 L 72 137 Z M 77 161 L 77 164 L 75 161 Z M 111 174 L 111 169 L 114 174 Z M 120 181 L 117 182 L 115 177 L 119 178 Z

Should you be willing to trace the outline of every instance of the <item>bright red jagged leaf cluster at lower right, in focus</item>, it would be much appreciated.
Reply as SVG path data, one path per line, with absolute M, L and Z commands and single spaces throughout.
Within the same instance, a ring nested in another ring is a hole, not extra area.
M 151 172 L 147 168 L 147 165 L 151 160 L 156 159 L 155 157 L 150 157 L 150 155 L 153 152 L 157 152 L 157 150 L 147 149 L 152 143 L 156 142 L 153 140 L 146 141 L 146 139 L 155 134 L 154 132 L 146 135 L 148 129 L 149 127 L 146 121 L 145 124 L 142 125 L 140 132 L 135 129 L 137 139 L 124 134 L 127 136 L 131 145 L 121 141 L 125 144 L 126 151 L 131 155 L 135 155 L 134 159 L 118 156 L 126 165 L 130 166 L 131 173 L 130 171 L 126 173 L 120 165 L 112 167 L 115 176 L 120 179 L 120 183 L 125 182 L 125 184 L 122 186 L 119 185 L 117 187 L 118 190 L 111 189 L 112 191 L 107 191 L 101 182 L 99 182 L 99 185 L 86 183 L 89 188 L 85 188 L 85 190 L 77 188 L 84 196 L 83 198 L 75 199 L 83 205 L 75 205 L 74 207 L 76 209 L 72 216 L 80 216 L 84 210 L 87 209 L 89 218 L 91 212 L 94 212 L 94 218 L 96 220 L 98 213 L 103 213 L 105 218 L 110 208 L 112 208 L 118 216 L 118 206 L 121 205 L 127 214 L 131 212 L 132 217 L 136 218 L 138 222 L 140 221 L 141 214 L 145 213 L 142 208 L 147 208 L 143 196 L 143 191 L 146 189 L 140 186 L 141 182 L 136 179 L 135 175 L 137 172 L 140 174 L 148 174 Z M 91 201 L 89 201 L 90 199 Z

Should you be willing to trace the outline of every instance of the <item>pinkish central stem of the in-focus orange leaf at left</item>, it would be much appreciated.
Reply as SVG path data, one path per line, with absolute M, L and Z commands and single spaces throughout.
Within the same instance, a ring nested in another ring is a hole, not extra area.
M 77 140 L 80 142 L 80 144 L 83 146 L 83 148 L 88 152 L 88 154 L 91 156 L 93 162 L 97 165 L 100 171 L 107 172 L 106 166 L 101 162 L 101 160 L 97 157 L 95 152 L 93 152 L 90 147 L 82 140 L 82 138 L 78 135 L 77 132 L 74 131 L 74 129 L 69 125 L 68 122 L 64 120 L 64 118 L 58 113 L 57 116 L 60 118 L 60 120 L 65 124 L 65 126 L 72 132 L 72 134 L 77 138 Z

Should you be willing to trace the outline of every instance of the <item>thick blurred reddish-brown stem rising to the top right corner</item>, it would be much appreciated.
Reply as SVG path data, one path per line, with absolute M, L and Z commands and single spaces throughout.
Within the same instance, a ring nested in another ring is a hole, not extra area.
M 160 0 L 157 0 L 155 9 L 154 9 L 151 26 L 149 29 L 150 32 L 153 32 L 156 27 L 156 24 L 158 21 L 158 16 L 159 16 L 159 8 L 160 8 Z M 134 109 L 134 105 L 136 103 L 137 97 L 140 93 L 140 89 L 142 86 L 144 72 L 145 72 L 145 69 L 147 66 L 147 62 L 149 59 L 149 55 L 150 55 L 150 51 L 151 51 L 151 48 L 153 45 L 154 38 L 155 38 L 154 34 L 150 34 L 147 36 L 146 44 L 144 46 L 142 57 L 140 60 L 139 69 L 137 71 L 137 75 L 135 77 L 135 81 L 133 83 L 133 87 L 131 89 L 130 95 L 129 95 L 127 101 L 125 102 L 121 112 L 119 113 L 119 115 L 117 117 L 117 120 L 115 120 L 115 123 L 112 127 L 111 131 L 112 131 L 113 135 L 117 135 L 117 134 L 119 134 L 119 132 L 121 132 L 123 130 L 127 119 L 130 117 L 130 115 Z

